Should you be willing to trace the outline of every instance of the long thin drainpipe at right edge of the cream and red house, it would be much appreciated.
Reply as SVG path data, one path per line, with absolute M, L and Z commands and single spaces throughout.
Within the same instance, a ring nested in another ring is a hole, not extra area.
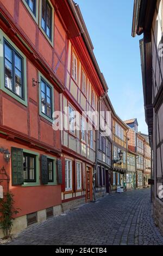
M 97 103 L 97 111 L 98 111 L 98 129 L 100 129 L 100 102 L 105 99 L 108 94 L 108 90 L 105 91 L 105 94 L 102 97 L 99 97 Z M 97 172 L 97 158 L 98 158 L 98 131 L 96 130 L 96 161 L 95 161 L 95 169 L 93 172 L 93 200 L 96 202 L 96 172 Z

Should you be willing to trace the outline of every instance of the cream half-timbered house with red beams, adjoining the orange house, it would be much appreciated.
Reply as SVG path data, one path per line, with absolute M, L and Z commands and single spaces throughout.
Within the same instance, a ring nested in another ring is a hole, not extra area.
M 79 6 L 73 1 L 68 2 L 80 34 L 67 41 L 66 82 L 61 94 L 64 114 L 61 197 L 64 210 L 93 200 L 96 123 L 91 114 L 98 111 L 98 98 L 108 91 Z

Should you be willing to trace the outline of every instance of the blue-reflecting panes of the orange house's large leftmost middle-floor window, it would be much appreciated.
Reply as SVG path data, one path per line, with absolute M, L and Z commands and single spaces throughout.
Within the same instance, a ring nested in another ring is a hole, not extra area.
M 4 74 L 5 88 L 23 99 L 23 58 L 7 41 L 4 41 Z

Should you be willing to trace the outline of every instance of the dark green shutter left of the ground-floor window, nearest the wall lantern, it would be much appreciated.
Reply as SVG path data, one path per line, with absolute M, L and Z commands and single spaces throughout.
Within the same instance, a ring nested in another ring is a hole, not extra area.
M 11 148 L 12 186 L 22 185 L 23 181 L 23 149 Z

